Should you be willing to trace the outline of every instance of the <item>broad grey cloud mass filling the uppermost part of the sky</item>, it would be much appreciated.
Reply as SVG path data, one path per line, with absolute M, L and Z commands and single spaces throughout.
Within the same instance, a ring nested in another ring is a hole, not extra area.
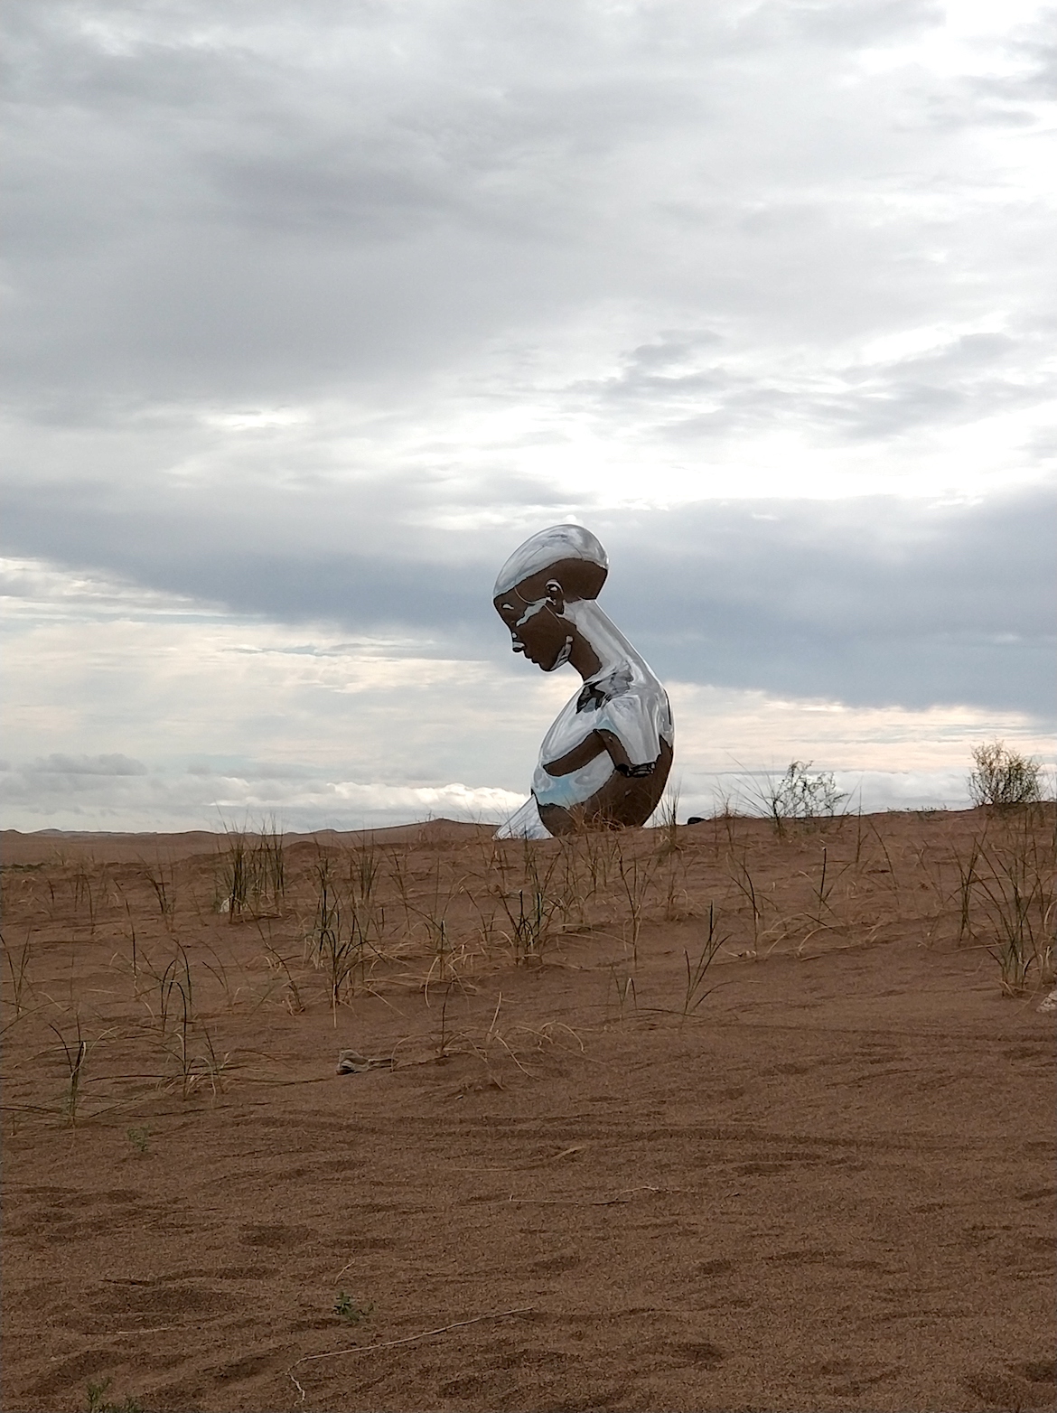
M 1017 242 L 1032 202 L 986 199 L 930 105 L 1030 120 L 1050 57 L 1024 38 L 985 110 L 856 68 L 938 17 L 13 7 L 8 372 L 30 400 L 290 396 L 425 376 L 613 297 L 808 342 L 943 295 L 978 311 L 995 278 L 1016 297 L 1046 278 Z

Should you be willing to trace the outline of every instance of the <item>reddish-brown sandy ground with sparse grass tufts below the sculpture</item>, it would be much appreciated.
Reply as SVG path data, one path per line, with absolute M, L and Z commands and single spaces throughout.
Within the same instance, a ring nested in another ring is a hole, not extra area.
M 3 1407 L 1053 1409 L 1053 832 L 3 835 Z

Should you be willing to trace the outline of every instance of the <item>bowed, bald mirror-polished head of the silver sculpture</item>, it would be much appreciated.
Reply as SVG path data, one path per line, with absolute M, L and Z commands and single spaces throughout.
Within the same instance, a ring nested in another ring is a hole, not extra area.
M 567 663 L 577 627 L 565 606 L 596 599 L 608 572 L 605 550 L 582 526 L 551 526 L 519 545 L 499 571 L 493 599 L 514 651 L 544 673 Z

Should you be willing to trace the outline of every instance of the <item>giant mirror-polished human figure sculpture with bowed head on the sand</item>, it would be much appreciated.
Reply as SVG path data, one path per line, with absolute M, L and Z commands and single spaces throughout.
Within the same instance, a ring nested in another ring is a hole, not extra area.
M 514 550 L 499 571 L 496 612 L 514 651 L 553 673 L 584 678 L 547 732 L 531 798 L 496 838 L 548 839 L 585 825 L 646 824 L 671 770 L 668 697 L 595 599 L 609 572 L 582 526 L 553 526 Z

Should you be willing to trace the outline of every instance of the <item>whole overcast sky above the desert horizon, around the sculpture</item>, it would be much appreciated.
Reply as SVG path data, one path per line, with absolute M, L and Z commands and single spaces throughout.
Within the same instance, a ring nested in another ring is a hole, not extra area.
M 1053 8 L 4 18 L 3 822 L 502 818 L 569 519 L 684 812 L 1051 757 Z

